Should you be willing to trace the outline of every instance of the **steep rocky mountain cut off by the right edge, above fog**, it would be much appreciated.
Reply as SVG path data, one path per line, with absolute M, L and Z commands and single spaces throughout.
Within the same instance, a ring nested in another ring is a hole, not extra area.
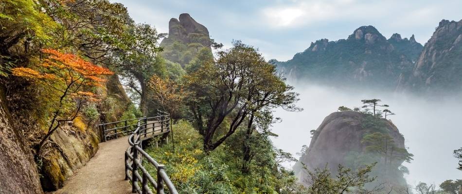
M 440 93 L 462 91 L 462 20 L 442 20 L 398 90 Z

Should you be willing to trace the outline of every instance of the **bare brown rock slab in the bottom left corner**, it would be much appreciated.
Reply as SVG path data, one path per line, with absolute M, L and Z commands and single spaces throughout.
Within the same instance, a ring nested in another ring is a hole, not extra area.
M 43 193 L 34 158 L 22 137 L 12 126 L 11 114 L 6 108 L 3 91 L 0 91 L 1 194 Z

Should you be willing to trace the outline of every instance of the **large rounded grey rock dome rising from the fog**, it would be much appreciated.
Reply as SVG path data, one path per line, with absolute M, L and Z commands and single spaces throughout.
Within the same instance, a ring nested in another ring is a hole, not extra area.
M 371 125 L 371 122 L 374 125 Z M 309 147 L 294 166 L 297 177 L 302 182 L 307 177 L 302 163 L 309 171 L 324 168 L 327 165 L 335 175 L 338 164 L 356 169 L 362 164 L 379 162 L 374 167 L 376 171 L 373 174 L 380 175 L 382 180 L 405 185 L 403 173 L 398 170 L 404 162 L 403 159 L 394 159 L 394 162 L 384 164 L 382 158 L 385 156 L 368 155 L 367 145 L 363 141 L 364 137 L 377 131 L 389 135 L 392 139 L 390 142 L 393 142 L 396 150 L 405 150 L 404 137 L 390 121 L 382 118 L 375 119 L 372 115 L 353 111 L 331 113 L 322 121 L 319 128 L 313 131 Z

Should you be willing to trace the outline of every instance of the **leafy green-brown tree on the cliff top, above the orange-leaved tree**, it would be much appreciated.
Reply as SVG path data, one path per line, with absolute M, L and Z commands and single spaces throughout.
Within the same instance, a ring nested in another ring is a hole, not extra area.
M 128 52 L 138 40 L 130 32 L 133 20 L 123 4 L 108 0 L 38 1 L 54 21 L 61 24 L 54 34 L 56 48 L 71 48 L 94 64 L 112 64 L 111 54 Z

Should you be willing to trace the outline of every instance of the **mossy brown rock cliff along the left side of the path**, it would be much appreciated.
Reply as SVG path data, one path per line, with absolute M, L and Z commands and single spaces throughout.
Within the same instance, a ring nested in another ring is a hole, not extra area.
M 40 104 L 43 96 L 27 81 L 12 76 L 3 79 L 1 83 L 7 88 L 7 92 L 6 101 L 2 98 L 0 115 L 5 127 L 2 127 L 0 138 L 8 141 L 2 139 L 0 142 L 3 154 L 1 157 L 7 157 L 0 160 L 0 178 L 12 181 L 0 181 L 0 189 L 18 193 L 24 189 L 24 193 L 35 194 L 42 193 L 42 188 L 53 191 L 62 187 L 65 180 L 84 166 L 98 150 L 100 130 L 97 125 L 120 118 L 131 103 L 117 75 L 107 77 L 106 84 L 96 91 L 104 99 L 96 107 L 100 118 L 90 119 L 82 111 L 73 121 L 63 123 L 42 148 L 43 157 L 34 161 L 30 147 L 38 143 L 38 137 L 43 136 L 48 125 L 48 120 L 43 115 L 47 115 L 49 110 L 44 104 Z M 3 105 L 7 108 L 4 109 Z M 18 150 L 18 147 L 22 150 Z M 6 170 L 3 171 L 3 168 Z M 16 178 L 20 180 L 15 180 Z

